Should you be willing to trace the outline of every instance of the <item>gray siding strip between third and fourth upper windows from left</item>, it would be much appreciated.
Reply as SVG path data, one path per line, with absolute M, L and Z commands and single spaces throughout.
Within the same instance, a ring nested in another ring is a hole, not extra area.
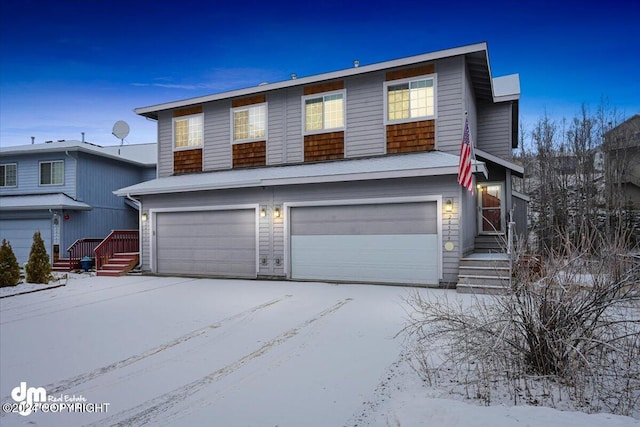
M 385 154 L 384 73 L 346 81 L 345 157 Z

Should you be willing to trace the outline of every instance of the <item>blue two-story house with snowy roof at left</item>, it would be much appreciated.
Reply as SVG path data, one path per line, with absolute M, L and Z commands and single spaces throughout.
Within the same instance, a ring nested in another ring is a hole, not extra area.
M 18 262 L 40 231 L 55 261 L 77 239 L 138 229 L 135 203 L 113 191 L 156 177 L 156 144 L 101 147 L 81 141 L 0 148 L 0 239 Z

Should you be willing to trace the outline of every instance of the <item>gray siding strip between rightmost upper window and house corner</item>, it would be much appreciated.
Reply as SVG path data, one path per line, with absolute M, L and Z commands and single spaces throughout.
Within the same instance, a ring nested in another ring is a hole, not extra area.
M 436 118 L 436 149 L 458 155 L 464 127 L 463 59 L 439 61 Z

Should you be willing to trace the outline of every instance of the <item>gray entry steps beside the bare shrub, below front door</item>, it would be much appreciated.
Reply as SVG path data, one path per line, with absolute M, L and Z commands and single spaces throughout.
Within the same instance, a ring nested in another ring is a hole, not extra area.
M 496 294 L 511 281 L 511 266 L 505 253 L 474 252 L 460 259 L 457 291 Z

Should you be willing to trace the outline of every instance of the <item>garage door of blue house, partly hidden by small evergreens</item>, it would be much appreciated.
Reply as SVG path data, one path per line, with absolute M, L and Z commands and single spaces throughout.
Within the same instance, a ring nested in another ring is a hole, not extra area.
M 0 241 L 7 239 L 16 254 L 20 265 L 29 260 L 33 244 L 33 233 L 40 231 L 44 247 L 51 257 L 51 220 L 50 219 L 6 219 L 0 221 Z

